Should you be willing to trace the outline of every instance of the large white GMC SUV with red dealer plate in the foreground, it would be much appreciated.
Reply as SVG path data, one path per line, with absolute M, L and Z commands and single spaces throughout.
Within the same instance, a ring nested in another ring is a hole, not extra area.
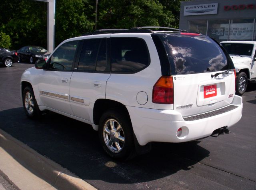
M 24 110 L 92 125 L 113 158 L 228 133 L 242 116 L 235 72 L 219 44 L 173 28 L 99 30 L 62 42 L 21 77 Z

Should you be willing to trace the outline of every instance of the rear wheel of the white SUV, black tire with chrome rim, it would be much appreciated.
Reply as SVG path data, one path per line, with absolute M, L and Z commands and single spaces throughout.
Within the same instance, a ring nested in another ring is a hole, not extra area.
M 108 110 L 100 118 L 99 138 L 105 152 L 117 160 L 135 155 L 132 124 L 126 114 Z

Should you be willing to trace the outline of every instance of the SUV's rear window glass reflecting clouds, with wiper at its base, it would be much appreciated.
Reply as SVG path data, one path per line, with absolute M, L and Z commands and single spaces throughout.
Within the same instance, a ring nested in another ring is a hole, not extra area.
M 232 66 L 214 40 L 206 37 L 159 35 L 172 74 L 194 74 L 230 69 Z

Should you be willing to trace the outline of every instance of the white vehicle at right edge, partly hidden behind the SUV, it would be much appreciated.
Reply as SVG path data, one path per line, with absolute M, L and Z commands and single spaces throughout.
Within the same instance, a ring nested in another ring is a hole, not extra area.
M 256 42 L 220 42 L 230 55 L 236 68 L 236 94 L 242 96 L 248 82 L 256 80 Z

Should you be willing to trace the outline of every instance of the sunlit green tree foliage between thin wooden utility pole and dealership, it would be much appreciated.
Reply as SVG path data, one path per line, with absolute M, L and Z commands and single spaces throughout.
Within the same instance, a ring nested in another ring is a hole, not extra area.
M 172 26 L 174 16 L 157 0 L 101 0 L 98 28 Z

